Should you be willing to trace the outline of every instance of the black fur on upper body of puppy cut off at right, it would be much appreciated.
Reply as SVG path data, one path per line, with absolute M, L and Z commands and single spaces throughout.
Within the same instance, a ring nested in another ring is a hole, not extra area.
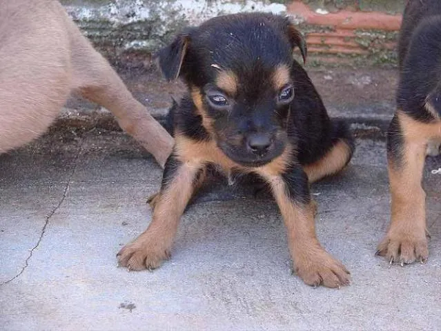
M 398 108 L 418 121 L 433 121 L 424 104 L 429 101 L 441 115 L 441 1 L 409 1 L 398 53 Z

